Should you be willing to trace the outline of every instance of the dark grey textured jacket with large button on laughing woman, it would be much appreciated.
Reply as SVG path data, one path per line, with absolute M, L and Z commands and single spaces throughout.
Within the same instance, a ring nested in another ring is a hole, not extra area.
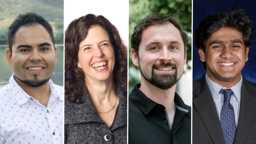
M 109 128 L 97 114 L 89 93 L 84 90 L 82 104 L 65 97 L 65 144 L 126 144 L 127 92 L 117 90 L 119 105 Z

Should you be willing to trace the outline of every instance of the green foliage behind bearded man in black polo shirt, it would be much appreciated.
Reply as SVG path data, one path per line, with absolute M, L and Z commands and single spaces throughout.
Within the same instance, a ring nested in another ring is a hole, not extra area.
M 192 2 L 191 0 L 129 0 L 129 43 L 134 27 L 151 13 L 168 14 L 178 21 L 187 32 L 187 68 L 191 69 L 191 28 Z M 131 45 L 129 44 L 129 93 L 136 83 L 140 83 L 140 71 L 131 60 Z

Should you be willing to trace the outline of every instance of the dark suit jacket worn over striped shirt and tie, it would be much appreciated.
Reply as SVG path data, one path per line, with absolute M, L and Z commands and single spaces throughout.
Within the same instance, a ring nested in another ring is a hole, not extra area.
M 193 144 L 225 144 L 205 75 L 193 82 Z M 256 84 L 243 78 L 234 144 L 256 144 Z

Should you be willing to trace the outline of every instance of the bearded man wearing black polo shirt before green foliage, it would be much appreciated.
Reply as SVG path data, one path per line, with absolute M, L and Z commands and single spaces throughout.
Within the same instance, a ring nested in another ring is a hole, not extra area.
M 141 84 L 129 95 L 128 143 L 191 143 L 191 107 L 175 93 L 186 45 L 186 33 L 168 15 L 150 14 L 134 28 L 132 61 Z

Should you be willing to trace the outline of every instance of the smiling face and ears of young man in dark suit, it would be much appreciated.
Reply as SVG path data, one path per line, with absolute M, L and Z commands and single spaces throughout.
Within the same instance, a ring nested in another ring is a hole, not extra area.
M 241 78 L 241 70 L 248 61 L 249 47 L 245 48 L 242 33 L 223 27 L 206 41 L 205 53 L 198 50 L 202 62 L 206 62 L 209 78 L 223 87 L 235 85 Z

